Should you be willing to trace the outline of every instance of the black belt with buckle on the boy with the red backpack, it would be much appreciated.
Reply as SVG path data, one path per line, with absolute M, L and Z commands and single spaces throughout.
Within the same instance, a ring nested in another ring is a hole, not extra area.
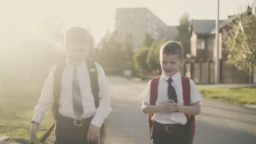
M 154 121 L 153 122 L 153 129 L 158 129 L 161 131 L 166 131 L 166 132 L 173 132 L 173 131 L 179 131 L 179 130 L 184 130 L 187 128 L 187 124 L 162 124 L 159 122 Z

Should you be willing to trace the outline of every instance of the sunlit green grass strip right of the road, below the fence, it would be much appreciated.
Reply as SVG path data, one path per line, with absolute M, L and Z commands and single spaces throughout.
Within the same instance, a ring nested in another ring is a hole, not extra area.
M 256 88 L 199 88 L 203 97 L 235 105 L 256 104 Z

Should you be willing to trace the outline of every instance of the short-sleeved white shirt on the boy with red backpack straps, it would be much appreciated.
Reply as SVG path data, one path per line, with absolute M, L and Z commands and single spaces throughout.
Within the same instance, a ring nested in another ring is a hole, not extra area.
M 168 76 L 162 71 L 162 75 L 159 80 L 158 85 L 158 99 L 156 100 L 156 105 L 161 104 L 162 102 L 168 100 L 168 82 L 169 77 L 172 78 L 172 86 L 175 88 L 177 94 L 177 102 L 179 105 L 183 105 L 183 91 L 182 91 L 182 80 L 181 74 L 179 71 L 172 75 Z M 144 91 L 139 95 L 139 99 L 144 103 L 150 104 L 150 85 L 151 80 L 149 81 L 147 87 Z M 190 104 L 194 104 L 197 101 L 201 101 L 202 97 L 199 91 L 196 88 L 196 85 L 193 80 L 190 80 Z M 176 112 L 176 113 L 155 113 L 152 117 L 152 120 L 162 123 L 162 124 L 185 124 L 187 123 L 187 118 L 184 113 Z

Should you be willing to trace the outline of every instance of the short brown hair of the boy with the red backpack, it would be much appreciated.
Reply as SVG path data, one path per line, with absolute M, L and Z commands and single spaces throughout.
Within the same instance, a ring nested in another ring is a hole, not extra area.
M 178 41 L 167 41 L 164 43 L 160 48 L 160 57 L 161 54 L 164 53 L 165 55 L 179 55 L 179 59 L 183 58 L 183 47 L 181 43 Z

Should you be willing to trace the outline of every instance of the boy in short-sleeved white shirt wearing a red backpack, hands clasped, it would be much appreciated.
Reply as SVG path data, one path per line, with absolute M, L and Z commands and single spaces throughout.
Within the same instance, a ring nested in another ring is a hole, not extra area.
M 202 98 L 193 80 L 179 73 L 184 65 L 182 45 L 166 42 L 159 59 L 162 75 L 150 80 L 139 95 L 142 111 L 149 114 L 151 143 L 192 143 L 194 115 L 201 112 Z

